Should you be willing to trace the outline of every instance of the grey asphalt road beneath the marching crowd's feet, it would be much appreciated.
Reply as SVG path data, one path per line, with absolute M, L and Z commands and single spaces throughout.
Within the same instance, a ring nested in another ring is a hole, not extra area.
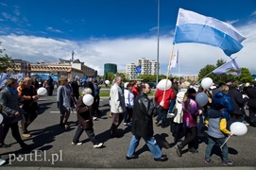
M 71 113 L 69 123 L 71 128 L 65 130 L 59 127 L 60 112 L 56 106 L 56 92 L 53 96 L 42 96 L 39 104 L 43 110 L 37 119 L 28 127 L 32 135 L 24 139 L 31 145 L 31 150 L 20 149 L 9 132 L 5 141 L 11 144 L 9 148 L 0 148 L 1 157 L 8 160 L 0 169 L 43 169 L 49 167 L 58 168 L 213 168 L 223 167 L 220 159 L 219 147 L 214 147 L 212 162 L 203 162 L 206 144 L 198 145 L 198 153 L 192 154 L 183 151 L 181 158 L 176 153 L 173 144 L 173 136 L 169 127 L 154 127 L 155 137 L 162 148 L 162 153 L 167 155 L 168 161 L 154 161 L 145 142 L 142 140 L 137 148 L 139 159 L 126 160 L 128 144 L 131 138 L 130 127 L 121 126 L 119 132 L 121 138 L 110 138 L 109 129 L 111 118 L 108 98 L 101 99 L 100 110 L 102 113 L 97 121 L 94 121 L 96 138 L 104 142 L 103 148 L 94 148 L 85 133 L 80 141 L 82 145 L 72 145 L 72 139 L 77 127 L 77 115 Z M 154 125 L 155 126 L 155 125 Z M 256 133 L 254 127 L 247 127 L 244 136 L 231 137 L 229 146 L 230 161 L 234 161 L 236 169 L 256 169 L 255 142 Z M 33 168 L 34 167 L 34 168 Z

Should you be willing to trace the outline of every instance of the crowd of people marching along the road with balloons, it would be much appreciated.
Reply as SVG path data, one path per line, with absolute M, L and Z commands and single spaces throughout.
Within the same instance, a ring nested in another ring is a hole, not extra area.
M 233 135 L 230 125 L 241 122 L 256 127 L 256 81 L 246 84 L 243 88 L 238 82 L 219 83 L 217 87 L 203 89 L 187 81 L 177 82 L 171 78 L 172 87 L 166 90 L 157 89 L 153 98 L 148 97 L 151 89 L 147 83 L 132 81 L 122 82 L 121 76 L 116 76 L 111 85 L 110 106 L 112 118 L 110 137 L 118 138 L 117 128 L 124 121 L 124 126 L 131 127 L 132 137 L 128 145 L 127 160 L 138 159 L 136 148 L 143 138 L 152 153 L 154 161 L 167 161 L 166 155 L 154 138 L 153 124 L 157 127 L 169 127 L 174 136 L 175 148 L 179 157 L 182 149 L 188 146 L 188 151 L 197 153 L 196 145 L 199 140 L 205 140 L 205 163 L 211 162 L 211 152 L 214 144 L 222 146 L 223 165 L 232 165 L 228 157 L 228 146 L 225 142 Z M 50 83 L 52 84 L 52 83 Z M 61 77 L 57 89 L 57 105 L 60 110 L 60 127 L 69 127 L 69 116 L 72 108 L 77 110 L 77 129 L 72 144 L 80 145 L 79 137 L 83 131 L 88 135 L 94 148 L 104 144 L 94 135 L 94 120 L 99 111 L 100 87 L 93 77 L 89 77 L 82 93 L 79 93 L 77 76 L 72 82 Z M 206 93 L 208 102 L 205 106 L 196 104 L 196 94 Z M 91 94 L 93 104 L 87 106 L 83 96 Z M 48 88 L 52 95 L 52 88 Z M 9 147 L 5 138 L 11 129 L 11 134 L 24 149 L 29 145 L 22 137 L 29 138 L 29 125 L 37 118 L 39 95 L 37 88 L 32 85 L 30 77 L 25 77 L 19 84 L 17 79 L 9 78 L 6 87 L 0 92 L 0 111 L 4 117 L 0 126 L 0 147 Z M 246 107 L 249 116 L 246 115 Z M 167 119 L 170 117 L 171 122 Z M 20 122 L 20 125 L 18 124 Z M 202 131 L 207 127 L 207 138 Z M 20 129 L 22 135 L 20 134 Z M 0 165 L 6 161 L 0 159 Z

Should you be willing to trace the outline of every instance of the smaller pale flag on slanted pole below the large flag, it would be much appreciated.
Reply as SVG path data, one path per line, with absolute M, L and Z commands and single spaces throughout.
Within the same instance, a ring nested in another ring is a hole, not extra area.
M 231 59 L 229 62 L 226 62 L 213 70 L 213 74 L 221 75 L 221 74 L 230 74 L 233 76 L 240 76 L 241 69 L 238 67 L 235 59 Z

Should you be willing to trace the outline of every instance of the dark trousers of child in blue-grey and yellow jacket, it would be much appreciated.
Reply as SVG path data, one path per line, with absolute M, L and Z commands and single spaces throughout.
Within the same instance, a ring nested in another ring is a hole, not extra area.
M 214 144 L 218 144 L 219 146 L 221 146 L 222 144 L 224 144 L 225 141 L 226 141 L 226 138 L 217 139 L 217 138 L 213 138 L 212 136 L 208 136 L 208 144 L 205 149 L 205 159 L 211 160 L 211 152 L 212 152 Z M 229 154 L 229 149 L 228 149 L 228 146 L 226 143 L 222 147 L 222 161 L 223 162 L 229 161 L 228 154 Z

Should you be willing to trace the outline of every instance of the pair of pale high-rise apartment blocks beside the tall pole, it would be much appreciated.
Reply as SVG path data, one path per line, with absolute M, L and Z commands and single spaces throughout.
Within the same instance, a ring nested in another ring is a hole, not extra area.
M 137 63 L 141 64 L 141 75 L 157 75 L 157 61 L 151 59 L 137 59 Z M 138 64 L 130 63 L 127 65 L 128 79 L 136 78 L 136 66 Z

